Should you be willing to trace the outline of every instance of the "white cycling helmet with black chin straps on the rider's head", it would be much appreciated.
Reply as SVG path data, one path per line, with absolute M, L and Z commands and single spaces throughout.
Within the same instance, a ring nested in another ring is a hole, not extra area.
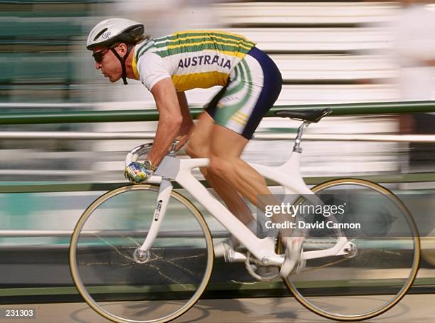
M 86 48 L 92 51 L 97 46 L 110 48 L 115 43 L 126 43 L 127 53 L 122 58 L 114 48 L 110 48 L 122 66 L 122 80 L 127 84 L 125 60 L 131 48 L 144 38 L 144 24 L 124 18 L 109 18 L 97 23 L 87 36 Z

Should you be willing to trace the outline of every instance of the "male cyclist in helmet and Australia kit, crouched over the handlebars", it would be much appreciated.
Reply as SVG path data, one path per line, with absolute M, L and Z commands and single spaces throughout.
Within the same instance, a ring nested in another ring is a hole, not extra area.
M 205 179 L 248 228 L 255 227 L 245 196 L 264 210 L 271 196 L 264 178 L 240 159 L 262 117 L 281 91 L 282 78 L 271 58 L 247 38 L 223 31 L 180 31 L 151 39 L 142 23 L 110 18 L 92 28 L 87 49 L 95 68 L 116 82 L 140 80 L 159 110 L 154 145 L 144 163 L 131 163 L 126 176 L 139 183 L 151 176 L 173 139 L 189 139 L 190 157 L 208 157 Z M 184 91 L 222 86 L 194 125 Z M 216 248 L 224 255 L 230 241 Z

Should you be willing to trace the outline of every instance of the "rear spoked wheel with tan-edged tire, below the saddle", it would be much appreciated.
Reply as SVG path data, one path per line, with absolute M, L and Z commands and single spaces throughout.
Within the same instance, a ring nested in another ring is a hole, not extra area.
M 340 236 L 350 248 L 306 259 L 299 274 L 284 278 L 286 286 L 307 309 L 334 320 L 370 319 L 396 305 L 419 269 L 419 235 L 407 207 L 370 181 L 337 179 L 312 191 L 329 211 L 309 219 L 317 224 L 306 231 L 304 253 L 332 248 Z

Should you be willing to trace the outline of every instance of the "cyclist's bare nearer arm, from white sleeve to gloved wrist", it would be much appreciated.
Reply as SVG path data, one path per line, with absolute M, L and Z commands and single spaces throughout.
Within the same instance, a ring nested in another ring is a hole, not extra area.
M 183 116 L 181 115 L 176 88 L 171 78 L 160 80 L 153 86 L 151 93 L 156 101 L 157 110 L 159 110 L 159 124 L 157 125 L 154 145 L 148 159 L 157 166 L 168 153 L 173 139 L 180 132 Z

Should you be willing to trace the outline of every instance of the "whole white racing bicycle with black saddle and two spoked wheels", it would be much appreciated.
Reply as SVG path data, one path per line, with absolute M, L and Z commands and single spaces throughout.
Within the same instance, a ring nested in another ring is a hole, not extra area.
M 180 317 L 208 287 L 213 238 L 225 238 L 221 231 L 210 233 L 209 225 L 216 227 L 218 221 L 241 243 L 227 261 L 245 263 L 260 284 L 283 280 L 312 312 L 354 321 L 396 305 L 419 269 L 419 234 L 407 207 L 392 191 L 371 181 L 335 179 L 308 188 L 301 177 L 304 129 L 330 112 L 277 111 L 279 117 L 302 121 L 291 157 L 281 166 L 251 164 L 276 183 L 274 193 L 281 206 L 308 209 L 302 215 L 288 214 L 289 223 L 302 223 L 294 232 L 304 238 L 289 275 L 279 273 L 287 254 L 280 231 L 252 233 L 194 176 L 195 169 L 208 166 L 209 160 L 177 158 L 173 144 L 146 183 L 108 191 L 80 217 L 69 253 L 80 295 L 114 322 L 168 322 Z M 150 148 L 144 144 L 131 150 L 126 165 Z M 260 220 L 266 227 L 274 226 L 264 210 L 257 213 Z

